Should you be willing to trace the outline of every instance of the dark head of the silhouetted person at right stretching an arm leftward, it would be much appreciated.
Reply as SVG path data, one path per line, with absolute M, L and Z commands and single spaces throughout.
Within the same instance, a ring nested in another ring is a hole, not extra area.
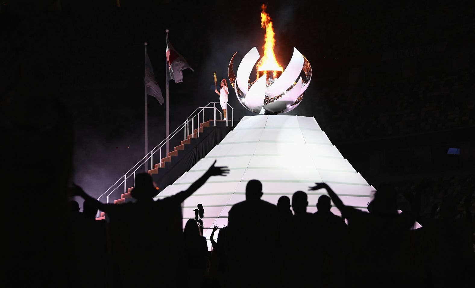
M 381 183 L 371 201 L 371 214 L 388 215 L 398 213 L 396 191 L 390 184 Z

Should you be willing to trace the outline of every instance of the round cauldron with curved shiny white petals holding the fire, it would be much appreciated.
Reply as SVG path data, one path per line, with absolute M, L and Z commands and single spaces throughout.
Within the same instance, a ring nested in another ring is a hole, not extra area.
M 260 55 L 254 47 L 241 61 L 234 74 L 234 57 L 229 63 L 229 81 L 236 91 L 237 98 L 247 110 L 259 114 L 277 114 L 291 111 L 297 107 L 304 91 L 312 79 L 312 67 L 307 58 L 294 48 L 294 54 L 284 71 L 260 70 Z M 262 61 L 262 59 L 261 59 Z M 257 79 L 251 83 L 249 75 L 256 65 Z M 304 75 L 301 76 L 302 70 Z M 297 80 L 298 78 L 298 80 Z M 295 82 L 295 80 L 297 80 Z

